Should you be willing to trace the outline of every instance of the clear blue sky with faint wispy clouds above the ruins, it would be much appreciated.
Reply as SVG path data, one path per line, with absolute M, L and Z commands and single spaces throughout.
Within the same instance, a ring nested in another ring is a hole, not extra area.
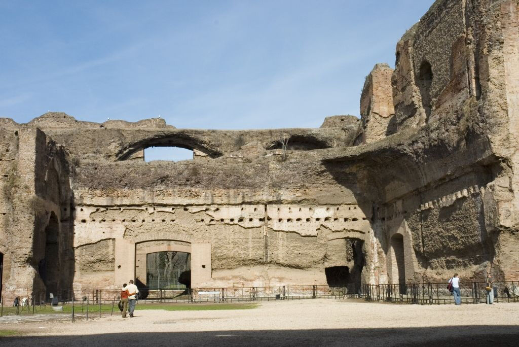
M 319 127 L 432 3 L 0 0 L 0 117 Z

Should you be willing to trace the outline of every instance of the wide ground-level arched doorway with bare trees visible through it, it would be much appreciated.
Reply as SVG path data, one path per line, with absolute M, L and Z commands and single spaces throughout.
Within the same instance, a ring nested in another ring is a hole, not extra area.
M 186 289 L 188 286 L 181 276 L 190 270 L 190 253 L 177 251 L 147 253 L 146 286 L 151 290 Z

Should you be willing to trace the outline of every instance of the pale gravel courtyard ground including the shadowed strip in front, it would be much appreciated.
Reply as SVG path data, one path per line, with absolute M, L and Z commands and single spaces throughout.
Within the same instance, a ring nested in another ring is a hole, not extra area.
M 264 302 L 252 310 L 138 310 L 90 322 L 2 323 L 28 336 L 15 346 L 118 345 L 510 345 L 519 303 L 397 305 L 330 299 Z

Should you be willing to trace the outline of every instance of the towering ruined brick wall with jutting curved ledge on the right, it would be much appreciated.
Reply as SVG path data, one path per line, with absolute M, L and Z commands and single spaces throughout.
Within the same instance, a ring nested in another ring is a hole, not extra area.
M 517 5 L 436 1 L 397 45 L 388 134 L 399 134 L 342 155 L 378 174 L 387 257 L 402 235 L 408 280 L 481 280 L 490 266 L 518 278 Z

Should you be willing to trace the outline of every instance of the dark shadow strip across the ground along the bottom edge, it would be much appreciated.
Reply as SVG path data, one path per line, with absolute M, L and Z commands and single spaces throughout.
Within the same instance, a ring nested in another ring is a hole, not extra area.
M 359 319 L 362 319 L 359 317 Z M 316 322 L 318 318 L 316 317 Z M 482 322 L 484 323 L 484 322 Z M 174 329 L 174 323 L 169 323 Z M 163 327 L 167 328 L 167 327 Z M 131 326 L 129 326 L 131 330 Z M 230 330 L 199 332 L 121 332 L 83 336 L 0 338 L 15 346 L 516 346 L 519 326 L 447 326 L 393 329 Z

